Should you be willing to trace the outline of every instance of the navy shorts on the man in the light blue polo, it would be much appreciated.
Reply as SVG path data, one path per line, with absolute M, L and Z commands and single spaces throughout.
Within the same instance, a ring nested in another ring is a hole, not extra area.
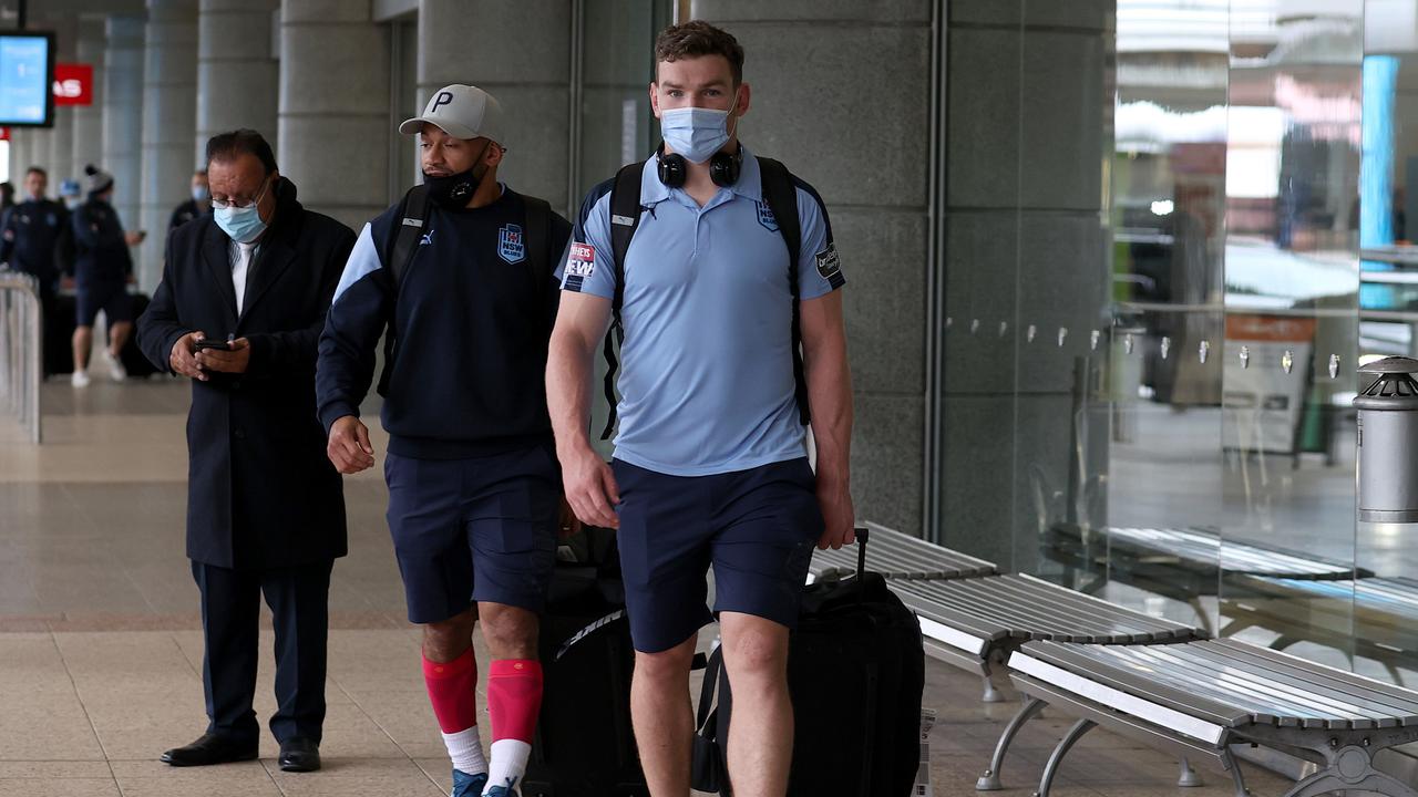
M 615 459 L 621 572 L 637 651 L 669 650 L 720 611 L 797 627 L 822 536 L 807 458 L 709 476 L 671 476 Z M 715 606 L 705 606 L 710 564 Z

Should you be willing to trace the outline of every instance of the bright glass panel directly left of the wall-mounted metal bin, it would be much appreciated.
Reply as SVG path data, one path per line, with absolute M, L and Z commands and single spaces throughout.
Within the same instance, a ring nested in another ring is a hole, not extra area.
M 1231 0 L 1222 632 L 1339 667 L 1353 652 L 1361 55 L 1361 0 Z

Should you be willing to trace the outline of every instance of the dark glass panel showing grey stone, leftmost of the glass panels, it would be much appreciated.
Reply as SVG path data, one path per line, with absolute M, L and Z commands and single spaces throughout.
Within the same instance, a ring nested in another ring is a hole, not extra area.
M 1012 562 L 1085 591 L 1107 573 L 1116 41 L 1112 3 L 1025 0 Z

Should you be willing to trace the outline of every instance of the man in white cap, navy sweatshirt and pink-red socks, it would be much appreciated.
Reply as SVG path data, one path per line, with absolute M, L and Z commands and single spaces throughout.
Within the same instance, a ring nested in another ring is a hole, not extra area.
M 374 464 L 359 406 L 386 326 L 389 528 L 455 797 L 508 797 L 542 701 L 537 613 L 556 559 L 560 469 L 546 411 L 554 268 L 571 225 L 498 182 L 502 109 L 450 85 L 421 116 L 423 186 L 364 225 L 320 338 L 316 400 L 343 474 Z M 492 652 L 492 760 L 478 735 L 474 624 Z

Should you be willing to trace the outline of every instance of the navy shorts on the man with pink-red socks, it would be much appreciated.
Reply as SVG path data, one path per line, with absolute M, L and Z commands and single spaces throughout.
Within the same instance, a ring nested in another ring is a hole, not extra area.
M 542 611 L 556 564 L 562 475 L 545 447 L 467 459 L 384 455 L 389 530 L 410 623 L 474 601 Z

